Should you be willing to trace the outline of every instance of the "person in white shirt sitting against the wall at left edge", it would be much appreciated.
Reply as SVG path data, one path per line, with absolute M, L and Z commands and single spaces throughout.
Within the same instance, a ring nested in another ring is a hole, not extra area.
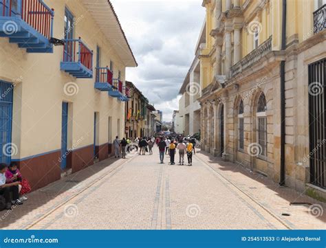
M 6 199 L 6 210 L 11 210 L 12 203 L 14 205 L 21 205 L 23 203 L 19 201 L 19 182 L 6 183 L 6 170 L 7 165 L 0 164 L 0 194 Z M 10 201 L 10 192 L 12 192 L 12 202 Z

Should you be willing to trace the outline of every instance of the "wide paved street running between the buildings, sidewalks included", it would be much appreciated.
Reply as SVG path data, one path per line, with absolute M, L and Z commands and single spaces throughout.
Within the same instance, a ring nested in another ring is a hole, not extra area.
M 32 192 L 1 212 L 1 228 L 325 229 L 325 213 L 290 205 L 323 211 L 325 203 L 206 153 L 194 155 L 192 167 L 170 166 L 154 150 L 101 161 Z

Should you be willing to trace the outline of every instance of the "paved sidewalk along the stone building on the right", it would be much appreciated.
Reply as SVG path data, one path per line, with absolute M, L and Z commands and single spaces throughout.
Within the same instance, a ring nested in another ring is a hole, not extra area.
M 326 203 L 291 188 L 280 187 L 261 174 L 251 172 L 241 165 L 222 161 L 208 153 L 201 151 L 197 157 L 292 229 L 326 229 Z

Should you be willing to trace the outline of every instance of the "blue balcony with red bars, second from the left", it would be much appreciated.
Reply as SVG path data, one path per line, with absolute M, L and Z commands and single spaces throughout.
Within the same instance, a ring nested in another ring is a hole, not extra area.
M 61 70 L 75 78 L 93 78 L 93 51 L 81 38 L 65 40 Z

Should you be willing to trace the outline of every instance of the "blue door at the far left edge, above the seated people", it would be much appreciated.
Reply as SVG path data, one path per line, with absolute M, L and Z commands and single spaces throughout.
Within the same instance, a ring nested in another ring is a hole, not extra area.
M 12 144 L 12 84 L 0 81 L 0 162 L 10 164 L 12 152 L 17 148 Z

